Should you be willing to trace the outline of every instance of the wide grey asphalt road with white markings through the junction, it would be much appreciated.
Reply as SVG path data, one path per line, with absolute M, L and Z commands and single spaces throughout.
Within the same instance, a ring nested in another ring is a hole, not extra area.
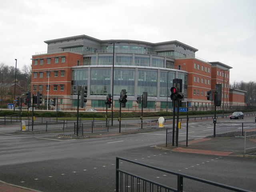
M 254 122 L 218 120 L 221 122 Z M 168 126 L 168 125 L 166 125 Z M 186 141 L 182 123 L 179 142 Z M 187 154 L 157 150 L 165 142 L 165 130 L 92 139 L 63 139 L 56 134 L 14 134 L 13 127 L 0 127 L 0 180 L 43 192 L 115 191 L 116 156 L 166 170 L 254 191 L 256 162 L 252 158 Z M 213 134 L 212 120 L 190 122 L 189 140 Z M 176 186 L 169 176 L 123 163 L 129 172 L 146 175 Z M 201 185 L 201 184 L 200 184 Z M 218 191 L 186 182 L 184 191 Z

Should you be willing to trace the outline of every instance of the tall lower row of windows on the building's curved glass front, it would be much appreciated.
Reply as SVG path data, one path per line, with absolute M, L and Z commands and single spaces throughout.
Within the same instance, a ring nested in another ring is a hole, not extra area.
M 172 80 L 175 78 L 175 72 L 160 71 L 160 97 L 166 97 L 170 94 Z M 178 78 L 183 79 L 183 91 L 187 89 L 187 75 L 178 74 Z M 90 70 L 90 79 L 88 78 L 88 69 L 72 70 L 71 94 L 77 94 L 81 85 L 90 84 L 90 94 L 106 95 L 110 93 L 112 84 L 112 74 L 110 68 Z M 89 81 L 88 81 L 89 80 Z M 135 96 L 135 84 L 137 84 L 137 94 L 148 92 L 148 96 L 157 96 L 158 91 L 158 71 L 157 70 L 138 70 L 135 69 L 115 69 L 114 70 L 114 95 L 119 95 L 120 90 L 126 89 L 129 96 Z M 89 90 L 88 90 L 89 91 Z

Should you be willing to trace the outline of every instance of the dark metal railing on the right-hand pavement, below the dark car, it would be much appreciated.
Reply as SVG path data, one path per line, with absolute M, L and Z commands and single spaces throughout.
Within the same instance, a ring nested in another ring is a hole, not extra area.
M 216 136 L 244 136 L 244 132 L 256 130 L 256 125 L 246 125 L 248 123 L 243 122 L 241 125 L 217 125 Z

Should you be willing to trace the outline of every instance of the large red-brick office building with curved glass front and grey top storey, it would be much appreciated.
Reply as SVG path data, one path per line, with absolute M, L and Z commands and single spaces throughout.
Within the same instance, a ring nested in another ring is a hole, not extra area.
M 170 109 L 170 87 L 174 78 L 183 80 L 183 106 L 190 102 L 195 108 L 212 108 L 213 102 L 206 100 L 206 92 L 214 89 L 215 84 L 223 84 L 225 107 L 244 106 L 244 101 L 234 101 L 234 96 L 232 102 L 229 100 L 232 67 L 196 58 L 196 48 L 178 41 L 98 40 L 81 35 L 45 43 L 47 52 L 32 56 L 31 90 L 40 91 L 44 102 L 47 98 L 48 101 L 58 98 L 61 108 L 66 110 L 77 106 L 77 93 L 82 85 L 88 90 L 86 108 L 104 110 L 106 95 L 112 93 L 112 82 L 114 110 L 119 109 L 122 89 L 126 89 L 128 95 L 123 110 L 138 110 L 136 98 L 143 92 L 148 92 L 148 110 Z M 232 94 L 241 96 L 244 92 L 236 90 Z

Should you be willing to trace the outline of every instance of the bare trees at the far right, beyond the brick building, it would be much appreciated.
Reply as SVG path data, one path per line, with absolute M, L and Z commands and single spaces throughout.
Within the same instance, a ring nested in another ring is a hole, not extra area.
M 244 95 L 244 102 L 247 106 L 256 106 L 256 82 L 249 81 L 249 82 L 233 82 L 230 84 L 231 89 L 240 89 L 246 91 Z

